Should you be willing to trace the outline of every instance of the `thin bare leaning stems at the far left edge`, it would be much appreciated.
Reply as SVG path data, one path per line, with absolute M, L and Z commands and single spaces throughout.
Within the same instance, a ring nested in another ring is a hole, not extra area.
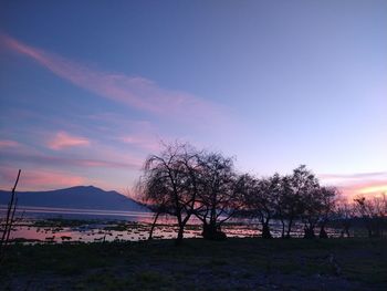
M 17 179 L 14 181 L 14 185 L 13 185 L 13 188 L 11 191 L 11 198 L 10 198 L 9 204 L 8 204 L 6 219 L 3 222 L 3 229 L 2 229 L 1 240 L 0 240 L 0 263 L 4 259 L 6 251 L 7 251 L 7 248 L 9 245 L 10 235 L 12 231 L 12 227 L 13 227 L 13 224 L 15 221 L 14 214 L 17 211 L 17 205 L 18 205 L 18 197 L 17 197 L 15 190 L 17 190 L 17 186 L 19 183 L 20 173 L 21 173 L 21 169 L 19 169 L 19 172 L 18 172 L 18 176 L 17 176 Z

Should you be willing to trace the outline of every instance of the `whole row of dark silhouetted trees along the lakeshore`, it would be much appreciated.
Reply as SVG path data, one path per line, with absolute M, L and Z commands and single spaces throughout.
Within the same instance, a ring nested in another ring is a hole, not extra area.
M 335 187 L 320 185 L 304 165 L 291 175 L 255 177 L 237 173 L 231 157 L 179 143 L 146 159 L 137 193 L 155 211 L 149 238 L 158 216 L 167 214 L 177 220 L 178 243 L 191 217 L 202 222 L 205 239 L 221 240 L 221 227 L 232 217 L 257 219 L 268 239 L 273 220 L 281 222 L 282 238 L 291 237 L 296 222 L 303 225 L 304 238 L 315 238 L 317 230 L 320 238 L 327 238 L 330 221 L 341 224 L 343 236 L 349 236 L 354 218 L 362 218 L 369 237 L 377 237 L 387 214 L 385 198 L 342 201 Z

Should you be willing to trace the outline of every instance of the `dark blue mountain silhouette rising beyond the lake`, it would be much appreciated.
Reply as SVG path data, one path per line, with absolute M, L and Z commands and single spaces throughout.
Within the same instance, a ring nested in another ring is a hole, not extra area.
M 17 191 L 19 206 L 81 208 L 119 211 L 149 211 L 145 206 L 117 193 L 93 186 L 51 191 Z M 0 205 L 8 205 L 10 191 L 0 190 Z

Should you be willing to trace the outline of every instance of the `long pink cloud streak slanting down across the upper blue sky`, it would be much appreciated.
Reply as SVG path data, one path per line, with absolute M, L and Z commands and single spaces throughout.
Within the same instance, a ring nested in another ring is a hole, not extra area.
M 161 89 L 150 80 L 92 70 L 57 54 L 27 45 L 6 34 L 0 34 L 0 41 L 6 48 L 35 60 L 54 74 L 108 100 L 164 116 L 177 117 L 180 121 L 187 118 L 196 121 L 198 117 L 213 121 L 216 116 L 221 116 L 220 105 L 186 92 Z

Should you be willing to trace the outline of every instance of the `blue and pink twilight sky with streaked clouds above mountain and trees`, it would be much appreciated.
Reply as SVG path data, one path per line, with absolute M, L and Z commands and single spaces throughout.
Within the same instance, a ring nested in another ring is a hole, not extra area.
M 387 193 L 387 1 L 0 1 L 0 188 L 129 194 L 163 143 Z

